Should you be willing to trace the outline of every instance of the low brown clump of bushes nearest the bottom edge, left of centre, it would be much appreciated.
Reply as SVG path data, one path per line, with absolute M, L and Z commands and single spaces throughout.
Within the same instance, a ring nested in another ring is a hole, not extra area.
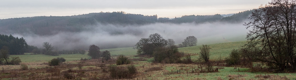
M 137 69 L 134 65 L 129 65 L 125 69 L 124 67 L 110 66 L 109 72 L 113 79 L 132 79 L 137 74 Z

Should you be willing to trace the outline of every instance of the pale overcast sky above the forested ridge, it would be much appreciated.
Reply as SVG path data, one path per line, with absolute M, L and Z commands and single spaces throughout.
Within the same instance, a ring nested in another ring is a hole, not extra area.
M 183 15 L 230 14 L 258 8 L 271 0 L 0 0 L 0 19 L 127 13 L 175 18 Z

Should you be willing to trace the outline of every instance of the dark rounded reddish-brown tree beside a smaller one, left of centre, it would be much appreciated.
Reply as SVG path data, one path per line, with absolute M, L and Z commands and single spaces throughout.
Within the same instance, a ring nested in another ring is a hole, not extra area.
M 97 59 L 100 57 L 100 47 L 96 46 L 96 45 L 90 45 L 89 46 L 89 54 L 87 54 L 89 56 L 91 56 L 92 59 Z

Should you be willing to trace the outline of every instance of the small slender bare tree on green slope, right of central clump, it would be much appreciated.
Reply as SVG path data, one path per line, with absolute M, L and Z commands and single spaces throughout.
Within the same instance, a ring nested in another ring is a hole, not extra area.
M 200 47 L 200 59 L 204 59 L 205 62 L 209 62 L 210 49 L 210 46 L 202 45 L 202 47 Z

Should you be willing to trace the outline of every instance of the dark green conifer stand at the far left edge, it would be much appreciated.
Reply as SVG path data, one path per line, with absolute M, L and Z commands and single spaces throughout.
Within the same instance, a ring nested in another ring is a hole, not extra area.
M 5 46 L 9 48 L 10 55 L 23 55 L 28 48 L 24 38 L 15 38 L 12 35 L 0 34 L 0 49 Z

